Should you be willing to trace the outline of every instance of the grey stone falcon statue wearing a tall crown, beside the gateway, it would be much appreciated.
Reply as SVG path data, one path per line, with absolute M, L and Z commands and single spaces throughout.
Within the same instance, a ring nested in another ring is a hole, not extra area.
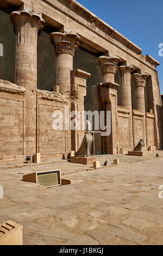
M 91 134 L 90 122 L 86 121 L 86 134 L 84 135 L 82 144 L 79 150 L 75 153 L 75 156 L 86 156 L 91 157 L 91 145 L 93 141 L 93 136 Z

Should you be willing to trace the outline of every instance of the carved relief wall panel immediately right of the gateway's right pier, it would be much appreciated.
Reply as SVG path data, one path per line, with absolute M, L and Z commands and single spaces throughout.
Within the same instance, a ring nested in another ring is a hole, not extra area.
M 129 147 L 129 118 L 118 117 L 119 122 L 119 147 Z

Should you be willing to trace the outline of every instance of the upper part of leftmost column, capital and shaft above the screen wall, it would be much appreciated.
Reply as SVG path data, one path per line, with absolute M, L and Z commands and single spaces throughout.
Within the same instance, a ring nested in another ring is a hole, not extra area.
M 37 32 L 45 22 L 27 10 L 13 11 L 11 22 L 17 35 L 16 84 L 37 88 Z

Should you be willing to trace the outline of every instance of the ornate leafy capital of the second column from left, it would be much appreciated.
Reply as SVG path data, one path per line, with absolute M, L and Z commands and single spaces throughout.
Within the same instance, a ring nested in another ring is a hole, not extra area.
M 72 33 L 51 33 L 51 41 L 55 48 L 56 55 L 60 53 L 69 53 L 74 56 L 76 50 L 78 50 L 80 37 L 77 34 Z

